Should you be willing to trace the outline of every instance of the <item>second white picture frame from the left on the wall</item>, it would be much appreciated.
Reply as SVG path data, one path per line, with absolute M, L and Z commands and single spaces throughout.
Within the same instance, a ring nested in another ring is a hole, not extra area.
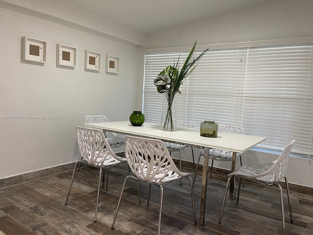
M 76 48 L 57 44 L 57 65 L 76 67 Z

